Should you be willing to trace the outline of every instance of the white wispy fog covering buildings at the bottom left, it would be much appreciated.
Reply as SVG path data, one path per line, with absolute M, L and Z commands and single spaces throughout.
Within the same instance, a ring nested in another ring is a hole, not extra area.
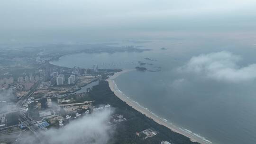
M 110 110 L 93 113 L 71 121 L 64 128 L 51 128 L 40 136 L 48 144 L 106 144 L 113 134 L 109 126 Z M 33 144 L 34 136 L 23 137 L 19 144 Z

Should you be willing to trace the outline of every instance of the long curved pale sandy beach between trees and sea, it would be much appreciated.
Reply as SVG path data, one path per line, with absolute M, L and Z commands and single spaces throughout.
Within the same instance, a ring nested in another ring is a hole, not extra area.
M 125 73 L 135 71 L 135 69 L 123 70 L 121 72 L 116 72 L 113 76 L 111 76 L 107 81 L 109 82 L 110 89 L 115 93 L 115 95 L 121 99 L 122 101 L 126 102 L 129 106 L 136 109 L 142 114 L 145 114 L 146 117 L 152 118 L 156 123 L 166 126 L 172 131 L 182 134 L 186 137 L 189 137 L 192 142 L 198 142 L 200 144 L 212 144 L 210 141 L 206 140 L 204 137 L 192 133 L 187 129 L 180 128 L 178 126 L 174 126 L 172 123 L 168 122 L 166 119 L 158 117 L 154 113 L 150 112 L 147 108 L 142 107 L 136 101 L 129 99 L 122 91 L 119 90 L 116 82 L 114 81 L 119 75 Z

